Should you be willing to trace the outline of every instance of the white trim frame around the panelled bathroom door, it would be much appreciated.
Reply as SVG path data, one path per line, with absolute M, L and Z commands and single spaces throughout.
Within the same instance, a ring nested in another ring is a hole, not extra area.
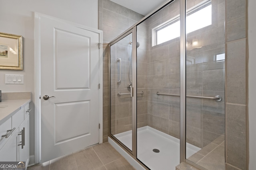
M 35 149 L 34 149 L 34 162 L 32 164 L 37 164 L 41 162 L 41 40 L 40 40 L 40 18 L 50 18 L 59 22 L 67 23 L 81 29 L 86 29 L 94 33 L 99 34 L 99 143 L 103 142 L 103 36 L 102 30 L 94 29 L 81 25 L 78 23 L 73 23 L 70 21 L 62 20 L 38 12 L 34 12 L 34 102 L 35 102 Z M 42 162 L 43 163 L 43 162 Z

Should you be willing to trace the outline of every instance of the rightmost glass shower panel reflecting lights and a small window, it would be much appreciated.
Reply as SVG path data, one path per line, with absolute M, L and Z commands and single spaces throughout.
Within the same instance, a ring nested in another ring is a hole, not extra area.
M 186 159 L 209 170 L 224 170 L 225 36 L 224 19 L 218 9 L 225 9 L 224 3 L 218 4 L 218 0 L 186 2 L 186 95 L 222 96 L 220 102 L 186 98 Z M 193 9 L 197 12 L 190 14 Z M 189 20 L 192 16 L 194 19 Z

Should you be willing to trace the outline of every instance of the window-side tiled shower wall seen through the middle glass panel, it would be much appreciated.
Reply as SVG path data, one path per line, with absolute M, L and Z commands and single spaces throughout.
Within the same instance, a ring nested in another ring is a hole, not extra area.
M 148 125 L 177 138 L 180 136 L 180 98 L 158 96 L 156 92 L 180 94 L 180 40 L 176 38 L 152 47 L 152 29 L 178 16 L 179 9 L 176 0 L 142 23 L 148 27 L 145 42 L 148 45 Z M 142 37 L 138 37 L 138 41 L 142 41 Z

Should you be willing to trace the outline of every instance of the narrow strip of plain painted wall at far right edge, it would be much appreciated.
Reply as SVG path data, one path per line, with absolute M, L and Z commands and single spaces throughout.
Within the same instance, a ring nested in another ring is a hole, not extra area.
M 248 0 L 248 43 L 249 43 L 249 169 L 256 167 L 256 1 Z

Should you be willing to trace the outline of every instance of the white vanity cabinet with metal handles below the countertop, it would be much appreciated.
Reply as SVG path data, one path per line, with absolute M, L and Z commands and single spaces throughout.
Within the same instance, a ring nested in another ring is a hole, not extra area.
M 29 111 L 29 104 L 27 104 L 0 125 L 1 131 L 4 127 L 4 135 L 8 136 L 7 138 L 6 136 L 2 137 L 0 141 L 0 161 L 26 161 L 27 168 L 29 162 Z

